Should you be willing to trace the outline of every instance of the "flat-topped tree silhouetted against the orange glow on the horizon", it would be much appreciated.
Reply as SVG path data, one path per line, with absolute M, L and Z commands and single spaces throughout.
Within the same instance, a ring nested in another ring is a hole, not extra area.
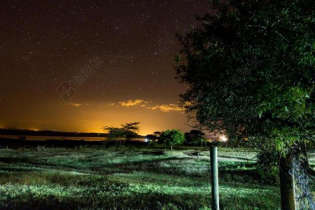
M 121 141 L 125 143 L 126 140 L 130 140 L 138 136 L 140 130 L 140 122 L 130 122 L 121 124 L 121 127 L 104 126 L 102 127 L 105 132 L 108 132 L 109 138 Z

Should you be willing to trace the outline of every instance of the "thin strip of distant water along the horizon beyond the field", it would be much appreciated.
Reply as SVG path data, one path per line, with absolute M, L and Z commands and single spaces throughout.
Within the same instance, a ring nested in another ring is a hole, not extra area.
M 0 138 L 4 139 L 19 139 L 19 135 L 0 135 Z M 25 136 L 26 140 L 38 140 L 38 141 L 47 141 L 47 140 L 85 140 L 85 141 L 105 141 L 107 140 L 104 137 L 63 137 L 63 136 Z M 146 142 L 145 139 L 133 139 L 133 141 Z

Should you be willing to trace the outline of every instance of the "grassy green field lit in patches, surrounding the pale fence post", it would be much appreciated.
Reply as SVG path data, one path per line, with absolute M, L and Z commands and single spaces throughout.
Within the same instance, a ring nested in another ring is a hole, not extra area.
M 0 150 L 0 209 L 209 210 L 209 152 Z M 253 153 L 219 150 L 221 209 L 280 209 L 273 176 Z

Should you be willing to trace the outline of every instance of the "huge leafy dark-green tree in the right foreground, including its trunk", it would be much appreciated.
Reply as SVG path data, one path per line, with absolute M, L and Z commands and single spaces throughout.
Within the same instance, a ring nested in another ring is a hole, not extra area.
M 182 105 L 197 127 L 276 151 L 282 209 L 315 209 L 307 182 L 315 174 L 307 158 L 315 140 L 314 2 L 212 4 L 215 15 L 178 34 L 176 70 L 189 86 Z

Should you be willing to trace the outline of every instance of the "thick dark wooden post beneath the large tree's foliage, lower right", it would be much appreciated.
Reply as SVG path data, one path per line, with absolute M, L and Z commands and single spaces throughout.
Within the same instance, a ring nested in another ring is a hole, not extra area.
M 294 175 L 292 174 L 291 168 L 292 168 L 291 158 L 280 157 L 279 175 L 282 210 L 296 210 Z

